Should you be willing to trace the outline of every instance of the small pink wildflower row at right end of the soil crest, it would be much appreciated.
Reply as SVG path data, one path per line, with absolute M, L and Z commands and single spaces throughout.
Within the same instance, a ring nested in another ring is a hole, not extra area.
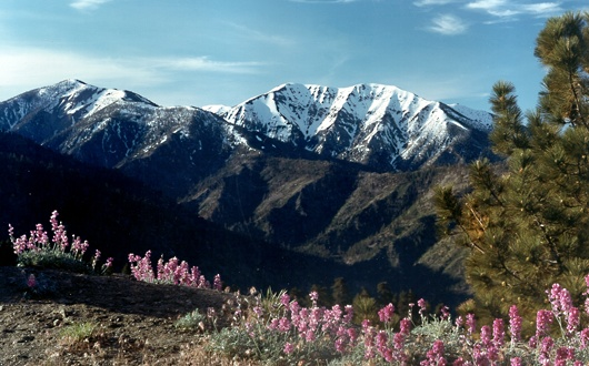
M 151 251 L 147 251 L 143 257 L 130 253 L 129 264 L 131 274 L 138 281 L 222 291 L 222 282 L 219 274 L 214 276 L 211 286 L 211 283 L 200 273 L 199 267 L 190 267 L 187 262 L 180 262 L 177 257 L 172 257 L 168 262 L 160 257 L 156 273 L 153 273 L 151 265 Z

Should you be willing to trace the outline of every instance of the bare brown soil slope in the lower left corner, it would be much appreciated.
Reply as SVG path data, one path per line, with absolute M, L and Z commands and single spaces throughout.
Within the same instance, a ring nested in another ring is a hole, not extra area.
M 27 285 L 31 274 L 37 294 Z M 196 308 L 220 313 L 231 297 L 120 274 L 0 267 L 0 366 L 210 365 L 198 329 L 174 322 Z M 67 335 L 87 322 L 96 325 L 89 337 Z

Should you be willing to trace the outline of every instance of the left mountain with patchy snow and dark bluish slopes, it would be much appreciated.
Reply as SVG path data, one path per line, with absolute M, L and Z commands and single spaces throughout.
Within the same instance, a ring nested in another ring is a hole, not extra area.
M 11 131 L 163 190 L 186 190 L 240 144 L 233 126 L 193 106 L 164 108 L 129 91 L 67 80 L 0 103 Z

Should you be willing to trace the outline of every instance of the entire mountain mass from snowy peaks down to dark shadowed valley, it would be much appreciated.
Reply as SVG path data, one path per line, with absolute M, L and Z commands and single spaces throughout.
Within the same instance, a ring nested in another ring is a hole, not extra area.
M 343 277 L 456 304 L 463 253 L 438 241 L 431 189 L 491 156 L 489 126 L 378 84 L 284 84 L 200 109 L 68 80 L 0 103 L 0 225 L 58 210 L 120 266 L 152 250 L 237 286 Z

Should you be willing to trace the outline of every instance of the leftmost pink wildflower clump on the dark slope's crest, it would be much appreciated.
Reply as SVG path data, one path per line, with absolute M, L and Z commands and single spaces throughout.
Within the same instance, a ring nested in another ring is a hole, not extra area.
M 71 242 L 68 237 L 66 226 L 58 222 L 59 213 L 53 211 L 49 223 L 51 224 L 52 237 L 43 228 L 43 225 L 37 224 L 34 230 L 30 231 L 29 236 L 21 235 L 14 237 L 14 227 L 8 225 L 8 235 L 18 256 L 19 266 L 38 266 L 46 268 L 60 268 L 73 272 L 100 272 L 106 273 L 112 267 L 112 258 L 108 258 L 97 270 L 98 260 L 100 258 L 100 251 L 96 251 L 91 265 L 83 261 L 83 255 L 87 252 L 88 241 L 81 241 L 80 236 L 72 235 Z

